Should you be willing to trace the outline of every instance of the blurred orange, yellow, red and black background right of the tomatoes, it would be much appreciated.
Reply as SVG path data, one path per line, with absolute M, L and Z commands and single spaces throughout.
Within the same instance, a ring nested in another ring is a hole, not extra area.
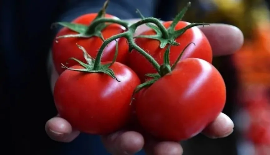
M 187 2 L 179 1 L 179 10 Z M 240 28 L 245 43 L 234 55 L 214 58 L 227 85 L 224 113 L 235 122 L 224 139 L 198 135 L 183 142 L 185 155 L 270 155 L 269 0 L 191 0 L 184 20 Z

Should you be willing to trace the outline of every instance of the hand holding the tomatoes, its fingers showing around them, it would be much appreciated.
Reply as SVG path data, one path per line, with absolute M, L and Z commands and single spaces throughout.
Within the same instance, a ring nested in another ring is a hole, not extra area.
M 134 22 L 136 20 L 132 20 Z M 147 29 L 146 26 L 141 26 L 137 34 Z M 229 55 L 239 50 L 243 44 L 242 32 L 231 25 L 226 24 L 211 24 L 201 28 L 213 49 L 215 56 Z M 58 77 L 54 70 L 52 73 L 52 88 Z M 232 120 L 225 115 L 220 115 L 205 128 L 202 132 L 209 138 L 223 138 L 230 135 L 233 131 L 234 124 Z M 79 135 L 79 131 L 72 131 L 69 122 L 61 117 L 54 117 L 46 123 L 47 134 L 56 141 L 70 142 Z M 135 131 L 118 131 L 116 133 L 102 136 L 102 141 L 107 150 L 112 154 L 134 154 L 142 148 L 148 154 L 182 154 L 182 147 L 176 142 L 155 141 L 143 137 L 140 133 Z

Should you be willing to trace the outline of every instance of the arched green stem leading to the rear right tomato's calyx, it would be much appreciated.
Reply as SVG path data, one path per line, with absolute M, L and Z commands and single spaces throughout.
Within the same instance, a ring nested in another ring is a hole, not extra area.
M 144 19 L 130 25 L 129 29 L 132 29 L 135 32 L 137 27 L 139 27 L 142 24 L 147 24 L 147 23 L 155 24 L 160 29 L 163 39 L 168 39 L 169 38 L 169 33 L 168 33 L 167 29 L 164 27 L 164 25 L 160 22 L 160 20 L 158 20 L 156 18 L 153 18 L 153 17 L 144 18 Z

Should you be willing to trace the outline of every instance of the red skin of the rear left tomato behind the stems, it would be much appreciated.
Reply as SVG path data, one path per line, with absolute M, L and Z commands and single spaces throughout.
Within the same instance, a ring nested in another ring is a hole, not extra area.
M 97 16 L 97 13 L 91 13 L 91 14 L 85 14 L 82 16 L 79 16 L 75 20 L 73 20 L 73 23 L 77 24 L 90 24 L 94 18 Z M 106 18 L 114 18 L 118 19 L 115 16 L 112 15 L 105 15 Z M 118 25 L 118 24 L 111 24 L 107 26 L 105 29 L 101 31 L 104 39 L 110 38 L 113 35 L 123 33 L 125 31 L 125 28 Z M 56 35 L 62 36 L 67 34 L 78 34 L 77 32 L 74 32 L 66 27 L 62 28 Z M 101 47 L 103 41 L 101 38 L 98 37 L 91 37 L 91 38 L 60 38 L 57 39 L 58 42 L 54 40 L 53 46 L 52 46 L 52 59 L 56 68 L 56 71 L 61 74 L 65 69 L 61 68 L 61 64 L 66 64 L 67 67 L 74 66 L 78 63 L 75 61 L 69 60 L 71 57 L 75 57 L 83 62 L 85 62 L 82 51 L 77 47 L 76 43 L 78 45 L 85 48 L 85 50 L 88 52 L 89 55 L 91 55 L 93 58 L 96 58 L 97 51 Z M 128 54 L 128 43 L 125 38 L 118 39 L 118 56 L 116 61 L 125 64 L 127 61 L 127 54 Z M 111 42 L 108 47 L 106 47 L 103 51 L 102 55 L 102 62 L 105 61 L 112 61 L 115 54 L 115 42 Z

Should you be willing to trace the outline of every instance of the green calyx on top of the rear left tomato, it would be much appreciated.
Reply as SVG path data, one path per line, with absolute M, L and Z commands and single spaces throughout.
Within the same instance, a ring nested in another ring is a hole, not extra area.
M 106 14 L 106 8 L 108 7 L 109 0 L 106 0 L 104 3 L 102 9 L 97 13 L 96 18 L 93 21 L 96 21 L 98 19 L 104 18 Z M 56 22 L 53 25 L 59 24 L 61 26 L 64 26 L 74 32 L 77 32 L 78 34 L 67 34 L 63 36 L 56 37 L 57 39 L 60 38 L 91 38 L 91 37 L 99 37 L 104 41 L 103 35 L 101 31 L 105 29 L 108 25 L 105 22 L 99 23 L 98 25 L 93 25 L 92 22 L 89 25 L 84 24 L 77 24 L 77 23 L 70 23 L 70 22 Z

